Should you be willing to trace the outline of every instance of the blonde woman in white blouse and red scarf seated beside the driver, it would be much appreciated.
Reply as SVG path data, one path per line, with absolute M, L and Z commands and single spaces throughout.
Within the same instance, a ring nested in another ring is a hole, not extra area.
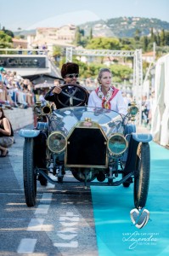
M 112 74 L 109 68 L 101 68 L 98 75 L 99 87 L 90 93 L 88 107 L 107 108 L 118 113 L 127 114 L 121 90 L 112 86 Z

